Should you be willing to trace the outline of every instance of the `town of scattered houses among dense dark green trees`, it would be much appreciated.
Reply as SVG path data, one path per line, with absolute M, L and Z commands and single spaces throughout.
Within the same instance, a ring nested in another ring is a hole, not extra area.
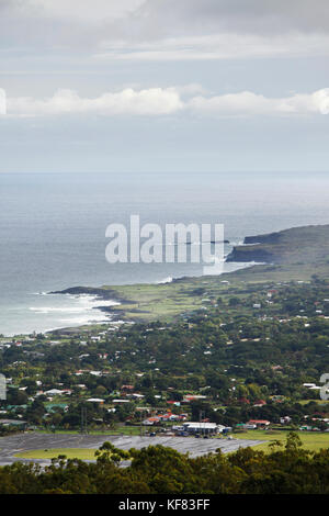
M 1 337 L 0 431 L 327 442 L 328 287 L 241 283 L 175 322 Z

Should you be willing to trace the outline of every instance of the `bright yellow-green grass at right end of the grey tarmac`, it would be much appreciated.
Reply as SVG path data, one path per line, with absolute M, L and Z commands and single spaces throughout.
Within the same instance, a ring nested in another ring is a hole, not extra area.
M 322 434 L 317 431 L 298 431 L 298 437 L 303 442 L 303 448 L 307 448 L 311 451 L 320 450 L 321 448 L 329 448 L 329 433 Z M 259 439 L 266 440 L 269 442 L 263 442 L 262 445 L 254 446 L 254 450 L 271 450 L 269 444 L 275 440 L 280 440 L 285 444 L 288 431 L 284 430 L 246 430 L 241 434 L 234 434 L 234 437 L 238 439 Z

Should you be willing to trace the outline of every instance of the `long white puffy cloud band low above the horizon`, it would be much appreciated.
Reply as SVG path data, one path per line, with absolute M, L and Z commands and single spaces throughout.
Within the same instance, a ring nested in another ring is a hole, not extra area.
M 195 96 L 196 92 L 200 94 Z M 48 99 L 9 98 L 7 106 L 10 116 L 163 116 L 179 113 L 205 117 L 292 116 L 329 114 L 329 88 L 285 98 L 269 98 L 251 91 L 206 97 L 200 85 L 186 85 L 139 91 L 126 88 L 118 92 L 105 92 L 93 99 L 81 98 L 76 91 L 60 89 Z

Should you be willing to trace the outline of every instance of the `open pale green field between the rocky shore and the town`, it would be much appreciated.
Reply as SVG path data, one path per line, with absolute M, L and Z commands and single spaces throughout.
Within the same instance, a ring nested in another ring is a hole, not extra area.
M 99 291 L 103 290 L 105 295 L 111 292 L 112 299 L 124 301 L 111 310 L 123 321 L 170 323 L 196 310 L 207 310 L 212 306 L 211 302 L 216 303 L 218 296 L 224 302 L 227 302 L 231 295 L 243 299 L 246 288 L 252 284 L 261 288 L 262 284 L 269 284 L 269 282 L 272 284 L 292 281 L 307 282 L 313 274 L 328 278 L 329 265 L 327 262 L 314 263 L 311 267 L 309 263 L 258 265 L 219 277 L 184 278 L 167 284 L 103 285 Z M 204 302 L 204 298 L 209 299 L 211 302 Z M 226 306 L 227 310 L 228 306 Z M 243 311 L 243 307 L 240 311 Z

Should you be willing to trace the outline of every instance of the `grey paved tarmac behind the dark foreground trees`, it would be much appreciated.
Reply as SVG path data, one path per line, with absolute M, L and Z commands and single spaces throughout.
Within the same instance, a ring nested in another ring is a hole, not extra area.
M 19 434 L 14 436 L 0 437 L 0 465 L 11 464 L 15 461 L 31 462 L 29 459 L 19 459 L 15 453 L 52 448 L 90 448 L 98 449 L 103 442 L 111 441 L 117 448 L 127 450 L 129 448 L 145 448 L 149 445 L 162 445 L 174 448 L 190 457 L 197 457 L 220 448 L 224 453 L 235 451 L 238 448 L 256 446 L 260 440 L 246 439 L 196 439 L 195 437 L 139 437 L 139 436 L 111 436 L 111 435 L 70 435 L 70 434 Z M 46 459 L 34 459 L 42 465 L 50 463 Z

